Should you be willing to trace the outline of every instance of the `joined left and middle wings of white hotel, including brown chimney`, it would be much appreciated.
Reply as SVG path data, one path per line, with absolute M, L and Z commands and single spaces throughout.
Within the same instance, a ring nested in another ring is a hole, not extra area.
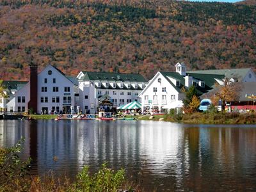
M 30 70 L 30 81 L 19 86 L 9 100 L 4 100 L 2 105 L 7 111 L 22 113 L 33 108 L 33 112 L 47 114 L 77 110 L 95 113 L 104 99 L 109 99 L 114 108 L 140 101 L 138 95 L 147 84 L 140 74 L 80 72 L 77 77 L 70 77 L 52 65 L 40 73 L 36 65 Z

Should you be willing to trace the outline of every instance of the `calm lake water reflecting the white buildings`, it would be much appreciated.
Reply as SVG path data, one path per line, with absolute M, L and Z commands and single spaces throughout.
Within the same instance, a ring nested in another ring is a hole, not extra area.
M 125 168 L 147 191 L 256 191 L 256 125 L 99 120 L 0 121 L 0 147 L 26 138 L 32 171 L 74 179 L 84 165 Z M 58 161 L 53 161 L 53 157 Z

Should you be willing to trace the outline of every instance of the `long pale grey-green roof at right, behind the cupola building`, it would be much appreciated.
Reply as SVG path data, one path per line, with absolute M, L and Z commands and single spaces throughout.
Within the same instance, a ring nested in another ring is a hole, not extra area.
M 214 70 L 195 70 L 188 71 L 188 74 L 214 74 L 214 75 L 223 75 L 228 79 L 232 77 L 237 77 L 241 81 L 248 72 L 252 70 L 251 68 L 230 68 L 230 69 L 214 69 Z

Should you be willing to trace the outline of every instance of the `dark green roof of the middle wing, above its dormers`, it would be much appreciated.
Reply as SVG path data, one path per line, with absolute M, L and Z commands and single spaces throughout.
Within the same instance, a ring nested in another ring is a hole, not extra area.
M 86 72 L 86 71 L 83 71 L 83 74 L 84 76 L 79 80 L 147 82 L 147 80 L 140 74 L 120 74 L 120 73 L 111 73 L 111 72 Z

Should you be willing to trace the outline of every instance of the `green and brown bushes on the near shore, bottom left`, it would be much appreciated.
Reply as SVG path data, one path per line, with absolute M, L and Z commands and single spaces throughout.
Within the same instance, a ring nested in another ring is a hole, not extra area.
M 70 182 L 67 177 L 56 177 L 49 173 L 44 177 L 30 177 L 27 173 L 30 159 L 21 161 L 23 139 L 11 148 L 0 148 L 0 191 L 134 191 L 134 185 L 125 179 L 124 169 L 114 171 L 102 164 L 100 170 L 90 174 L 88 166 Z M 133 188 L 133 189 L 132 189 Z M 125 189 L 125 190 L 124 190 Z M 135 191 L 142 191 L 138 186 Z

